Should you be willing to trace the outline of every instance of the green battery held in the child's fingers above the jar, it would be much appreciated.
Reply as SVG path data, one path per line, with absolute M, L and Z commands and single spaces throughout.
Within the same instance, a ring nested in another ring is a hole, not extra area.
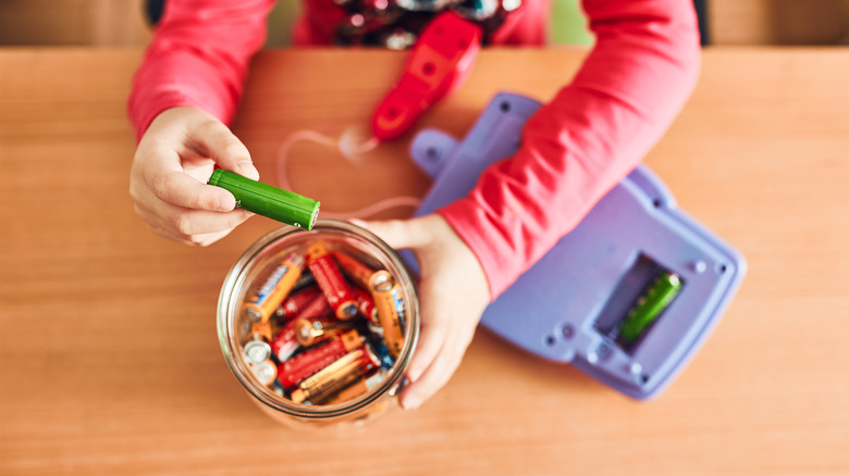
M 312 229 L 321 205 L 311 198 L 220 168 L 209 177 L 209 185 L 230 190 L 241 209 L 298 228 Z

